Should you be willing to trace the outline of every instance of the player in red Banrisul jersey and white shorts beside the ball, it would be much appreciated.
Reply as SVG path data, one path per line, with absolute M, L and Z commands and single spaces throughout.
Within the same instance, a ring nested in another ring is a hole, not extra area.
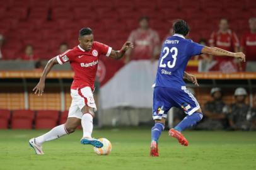
M 44 154 L 42 151 L 42 144 L 44 142 L 73 133 L 79 125 L 83 127 L 81 144 L 90 144 L 99 148 L 103 146 L 100 140 L 91 137 L 93 117 L 95 115 L 94 111 L 96 111 L 93 90 L 98 67 L 98 57 L 100 55 L 106 55 L 113 59 L 121 59 L 125 51 L 133 48 L 133 45 L 131 42 L 125 42 L 121 50 L 112 50 L 111 47 L 103 43 L 94 42 L 93 31 L 90 28 L 82 28 L 79 31 L 78 40 L 78 46 L 49 60 L 40 77 L 40 81 L 33 89 L 35 94 L 42 95 L 44 93 L 46 76 L 52 66 L 70 62 L 74 70 L 74 81 L 71 85 L 72 103 L 69 108 L 67 121 L 63 125 L 52 128 L 52 130 L 44 135 L 29 140 L 29 144 L 33 147 L 36 154 Z

